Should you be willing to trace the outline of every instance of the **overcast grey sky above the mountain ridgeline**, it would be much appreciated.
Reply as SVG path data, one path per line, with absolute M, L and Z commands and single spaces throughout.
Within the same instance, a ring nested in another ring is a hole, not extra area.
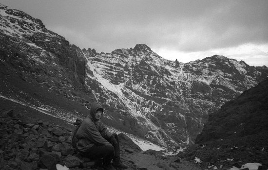
M 214 54 L 268 66 L 268 0 L 0 0 L 81 49 L 146 44 L 186 63 Z

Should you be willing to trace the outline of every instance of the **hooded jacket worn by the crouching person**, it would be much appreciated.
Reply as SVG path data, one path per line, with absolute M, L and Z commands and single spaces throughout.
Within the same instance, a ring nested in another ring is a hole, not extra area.
M 94 145 L 111 145 L 109 138 L 112 136 L 112 133 L 107 130 L 104 124 L 95 118 L 96 110 L 101 108 L 103 114 L 102 106 L 93 102 L 90 113 L 84 119 L 77 130 L 77 134 L 74 134 L 77 139 L 76 148 L 80 152 L 86 152 L 87 149 L 93 147 Z

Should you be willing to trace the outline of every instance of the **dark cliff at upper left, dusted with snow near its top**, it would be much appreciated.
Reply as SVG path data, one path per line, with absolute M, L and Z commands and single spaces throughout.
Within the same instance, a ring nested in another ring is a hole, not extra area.
M 0 4 L 0 60 L 39 83 L 81 88 L 85 79 L 82 51 L 45 28 L 41 20 Z M 55 80 L 55 81 L 54 81 Z

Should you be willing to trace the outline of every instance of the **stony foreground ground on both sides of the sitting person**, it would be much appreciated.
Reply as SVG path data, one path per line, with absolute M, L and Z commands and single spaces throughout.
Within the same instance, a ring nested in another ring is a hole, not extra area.
M 1 108 L 0 108 L 1 109 Z M 28 112 L 28 110 L 25 110 Z M 16 110 L 0 112 L 1 170 L 102 170 L 71 147 L 73 126 L 33 119 Z M 201 170 L 198 165 L 153 150 L 141 151 L 124 134 L 120 138 L 122 162 L 128 170 Z

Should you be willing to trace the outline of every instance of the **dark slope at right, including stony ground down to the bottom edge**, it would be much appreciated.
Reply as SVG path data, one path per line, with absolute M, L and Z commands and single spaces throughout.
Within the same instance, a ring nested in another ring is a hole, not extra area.
M 195 144 L 179 153 L 217 168 L 258 162 L 268 169 L 268 79 L 210 115 Z M 240 167 L 239 167 L 240 166 Z M 258 169 L 259 170 L 259 169 Z

